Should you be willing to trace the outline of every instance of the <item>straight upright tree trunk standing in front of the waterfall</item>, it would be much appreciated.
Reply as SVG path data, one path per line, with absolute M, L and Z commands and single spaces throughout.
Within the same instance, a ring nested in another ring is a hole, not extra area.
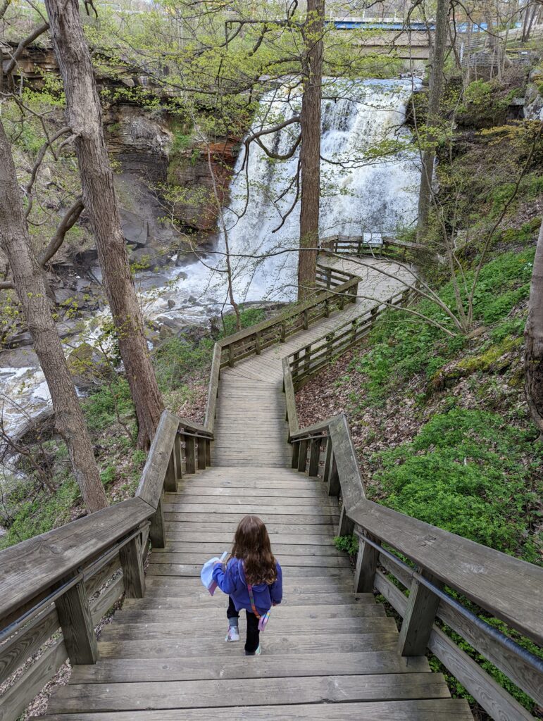
M 322 34 L 325 27 L 325 0 L 308 0 L 304 24 L 304 95 L 300 126 L 300 252 L 298 298 L 312 294 L 317 273 L 320 200 L 320 136 L 322 98 Z

